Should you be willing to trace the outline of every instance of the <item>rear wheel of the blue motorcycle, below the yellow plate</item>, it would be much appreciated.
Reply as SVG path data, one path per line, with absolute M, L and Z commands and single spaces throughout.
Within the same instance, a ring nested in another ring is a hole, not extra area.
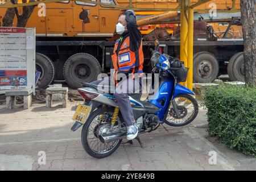
M 84 150 L 94 158 L 101 159 L 113 154 L 122 142 L 122 139 L 119 139 L 113 142 L 103 143 L 99 139 L 101 134 L 108 132 L 110 129 L 112 115 L 113 108 L 100 107 L 89 115 L 82 127 L 82 146 Z M 122 126 L 121 123 L 121 118 L 118 115 L 117 123 L 114 126 L 115 129 L 119 129 Z

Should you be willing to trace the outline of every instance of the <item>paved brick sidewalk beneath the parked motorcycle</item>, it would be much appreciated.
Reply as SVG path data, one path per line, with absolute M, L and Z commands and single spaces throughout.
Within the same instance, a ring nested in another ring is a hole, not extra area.
M 141 135 L 144 148 L 134 141 L 94 159 L 82 148 L 81 129 L 70 130 L 78 103 L 65 109 L 33 104 L 28 110 L 0 105 L 0 170 L 256 170 L 256 158 L 205 138 L 203 109 L 188 126 L 164 125 Z M 46 152 L 46 164 L 38 164 L 39 151 Z M 209 164 L 210 151 L 217 154 L 216 165 Z

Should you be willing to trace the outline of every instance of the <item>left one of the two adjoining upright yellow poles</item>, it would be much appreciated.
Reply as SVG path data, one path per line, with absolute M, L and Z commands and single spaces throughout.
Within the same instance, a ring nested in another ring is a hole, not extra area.
M 187 21 L 187 4 L 188 0 L 181 0 L 180 13 L 180 60 L 184 61 L 185 67 L 188 64 L 188 21 Z M 184 82 L 187 86 L 187 81 Z

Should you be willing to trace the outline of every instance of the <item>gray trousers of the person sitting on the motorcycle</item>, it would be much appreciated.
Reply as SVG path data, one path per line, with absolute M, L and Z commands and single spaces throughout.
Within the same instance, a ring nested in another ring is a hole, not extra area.
M 111 77 L 105 77 L 102 80 L 93 81 L 91 84 L 114 86 Z M 118 86 L 115 87 L 113 94 L 117 100 L 117 104 L 121 111 L 123 120 L 126 123 L 126 126 L 133 125 L 133 121 L 135 120 L 133 109 L 131 108 L 131 102 L 129 101 L 129 94 L 139 93 L 140 88 L 141 78 L 122 80 L 118 83 Z

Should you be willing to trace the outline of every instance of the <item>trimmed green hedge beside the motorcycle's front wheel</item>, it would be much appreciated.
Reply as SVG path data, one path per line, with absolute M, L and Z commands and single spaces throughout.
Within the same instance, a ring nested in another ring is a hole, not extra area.
M 204 90 L 208 133 L 243 154 L 256 154 L 256 88 L 219 85 Z

